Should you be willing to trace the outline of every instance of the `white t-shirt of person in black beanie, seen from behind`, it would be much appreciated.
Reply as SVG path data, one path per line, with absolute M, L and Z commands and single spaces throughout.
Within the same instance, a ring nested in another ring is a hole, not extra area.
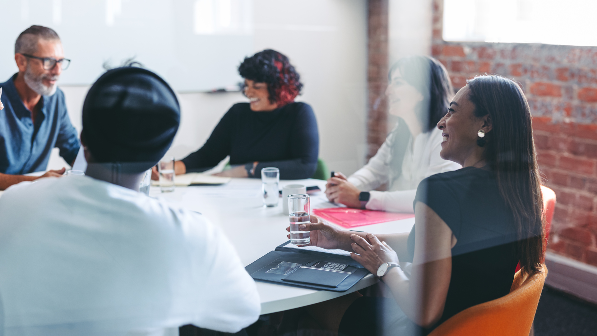
M 237 332 L 259 317 L 254 280 L 199 213 L 87 176 L 21 182 L 0 213 L 6 336 Z

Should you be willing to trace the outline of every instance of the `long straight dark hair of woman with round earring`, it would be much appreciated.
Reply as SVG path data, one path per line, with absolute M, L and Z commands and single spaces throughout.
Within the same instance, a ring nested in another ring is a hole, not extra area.
M 545 241 L 541 178 L 533 142 L 527 98 L 514 81 L 488 75 L 467 81 L 476 117 L 489 115 L 492 129 L 485 138 L 485 161 L 512 210 L 518 229 L 521 268 L 534 274 L 541 267 Z

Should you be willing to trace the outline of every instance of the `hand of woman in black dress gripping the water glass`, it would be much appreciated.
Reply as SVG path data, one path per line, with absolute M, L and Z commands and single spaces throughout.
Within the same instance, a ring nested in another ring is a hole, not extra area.
M 324 224 L 318 216 L 311 215 L 310 224 L 301 224 L 298 227 L 302 231 L 310 231 L 311 242 L 307 245 L 298 246 L 317 246 L 322 249 L 350 249 L 349 234 L 343 230 L 338 230 L 330 225 Z M 290 227 L 286 228 L 290 232 Z M 290 239 L 290 234 L 288 234 Z

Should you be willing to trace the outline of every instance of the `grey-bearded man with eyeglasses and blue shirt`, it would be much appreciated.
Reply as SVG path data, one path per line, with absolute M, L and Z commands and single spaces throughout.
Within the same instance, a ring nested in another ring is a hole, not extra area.
M 54 147 L 72 164 L 81 146 L 56 84 L 70 63 L 58 34 L 30 26 L 17 38 L 14 60 L 19 72 L 0 84 L 0 190 L 40 178 L 23 174 L 45 170 Z M 64 168 L 50 170 L 41 177 L 63 173 Z

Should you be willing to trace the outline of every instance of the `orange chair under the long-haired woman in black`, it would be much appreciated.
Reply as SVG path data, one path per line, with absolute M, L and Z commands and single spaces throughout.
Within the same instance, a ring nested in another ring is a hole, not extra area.
M 544 264 L 534 276 L 516 272 L 510 294 L 460 311 L 429 336 L 528 336 L 546 276 Z

